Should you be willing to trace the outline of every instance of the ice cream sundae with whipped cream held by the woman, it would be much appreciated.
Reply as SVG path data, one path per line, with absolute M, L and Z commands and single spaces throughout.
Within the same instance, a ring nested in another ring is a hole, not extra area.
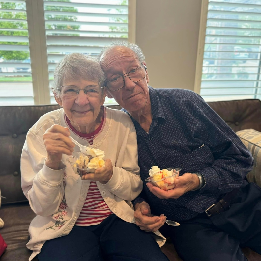
M 76 151 L 73 152 L 72 157 L 67 158 L 67 162 L 72 165 L 75 173 L 78 173 L 80 176 L 88 172 L 94 172 L 96 169 L 105 166 L 104 151 L 88 148 L 86 154 L 84 155 Z

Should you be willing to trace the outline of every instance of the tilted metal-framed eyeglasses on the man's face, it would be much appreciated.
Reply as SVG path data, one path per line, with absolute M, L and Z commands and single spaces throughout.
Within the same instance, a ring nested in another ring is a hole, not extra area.
M 138 82 L 142 79 L 144 79 L 146 77 L 146 66 L 142 66 L 139 68 L 135 68 L 133 70 L 131 70 L 128 73 L 122 74 L 120 76 L 114 77 L 112 79 L 110 79 L 109 81 L 107 81 L 105 83 L 105 86 L 110 90 L 110 91 L 117 91 L 120 90 L 121 88 L 123 88 L 124 84 L 125 84 L 125 80 L 124 77 L 129 76 L 129 78 L 133 81 L 133 82 Z M 127 75 L 126 75 L 127 74 Z M 125 76 L 124 76 L 125 75 Z

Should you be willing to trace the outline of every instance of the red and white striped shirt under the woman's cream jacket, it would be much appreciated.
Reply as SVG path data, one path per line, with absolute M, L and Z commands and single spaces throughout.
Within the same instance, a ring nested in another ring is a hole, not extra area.
M 101 109 L 104 110 L 104 107 L 101 106 Z M 104 110 L 105 114 L 105 110 Z M 66 116 L 66 121 L 70 129 L 76 133 L 78 136 L 88 140 L 90 145 L 92 145 L 94 137 L 97 137 L 99 135 L 99 132 L 103 128 L 104 124 L 104 118 L 105 115 L 103 114 L 102 122 L 100 123 L 99 127 L 92 133 L 81 133 L 77 131 L 72 124 L 70 123 L 70 120 Z M 81 213 L 78 217 L 78 219 L 75 222 L 76 226 L 91 226 L 91 225 L 98 225 L 103 220 L 105 220 L 106 217 L 113 214 L 113 212 L 109 209 L 105 201 L 103 200 L 102 195 L 100 194 L 100 191 L 97 187 L 96 181 L 91 181 L 90 187 L 84 202 L 84 205 L 82 207 Z

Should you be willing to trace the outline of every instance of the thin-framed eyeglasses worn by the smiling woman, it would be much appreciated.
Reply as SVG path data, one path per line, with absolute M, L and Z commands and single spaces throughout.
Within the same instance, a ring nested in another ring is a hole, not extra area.
M 99 97 L 102 92 L 103 87 L 99 85 L 86 86 L 84 89 L 78 89 L 74 85 L 65 85 L 57 88 L 61 92 L 63 97 L 66 98 L 76 98 L 80 90 L 84 90 L 84 93 L 89 97 Z

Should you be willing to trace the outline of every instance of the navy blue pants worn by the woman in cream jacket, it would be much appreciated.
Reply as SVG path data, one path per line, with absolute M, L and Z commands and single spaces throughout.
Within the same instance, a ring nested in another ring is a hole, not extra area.
M 168 261 L 151 233 L 112 214 L 94 226 L 74 226 L 70 233 L 48 240 L 39 261 Z

